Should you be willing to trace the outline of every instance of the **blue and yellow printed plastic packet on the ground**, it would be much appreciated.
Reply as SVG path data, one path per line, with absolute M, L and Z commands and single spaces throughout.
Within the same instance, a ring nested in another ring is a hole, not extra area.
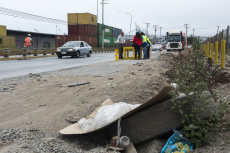
M 180 131 L 173 129 L 174 134 L 169 138 L 161 153 L 187 153 L 193 144 Z

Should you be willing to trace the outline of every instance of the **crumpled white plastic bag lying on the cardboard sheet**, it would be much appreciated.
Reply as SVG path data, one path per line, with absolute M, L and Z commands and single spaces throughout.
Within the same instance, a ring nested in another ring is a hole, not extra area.
M 115 103 L 113 105 L 102 106 L 93 119 L 82 118 L 79 120 L 81 129 L 85 132 L 95 131 L 109 123 L 119 119 L 124 114 L 137 108 L 140 104 L 127 104 L 124 102 Z

